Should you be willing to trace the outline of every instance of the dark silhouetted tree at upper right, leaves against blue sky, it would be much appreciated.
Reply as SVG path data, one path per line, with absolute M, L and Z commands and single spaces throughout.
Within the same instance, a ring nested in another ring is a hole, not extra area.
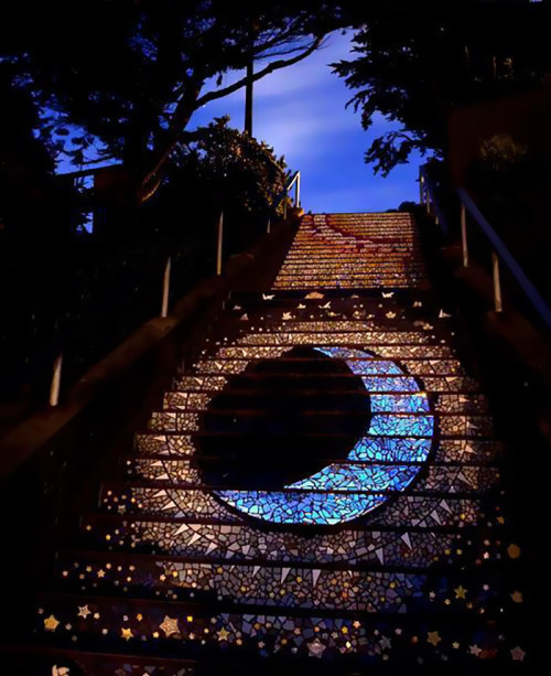
M 455 108 L 532 87 L 551 71 L 551 8 L 529 0 L 389 0 L 346 3 L 354 61 L 334 71 L 355 89 L 350 104 L 369 129 L 397 122 L 365 159 L 387 175 L 413 151 L 444 157 Z

